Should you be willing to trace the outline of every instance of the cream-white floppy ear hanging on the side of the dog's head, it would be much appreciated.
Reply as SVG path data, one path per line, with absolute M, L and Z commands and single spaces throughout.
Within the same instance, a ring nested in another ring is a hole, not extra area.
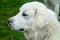
M 49 17 L 45 10 L 36 9 L 35 18 L 33 20 L 33 28 L 34 29 L 42 29 L 46 25 L 48 25 Z

